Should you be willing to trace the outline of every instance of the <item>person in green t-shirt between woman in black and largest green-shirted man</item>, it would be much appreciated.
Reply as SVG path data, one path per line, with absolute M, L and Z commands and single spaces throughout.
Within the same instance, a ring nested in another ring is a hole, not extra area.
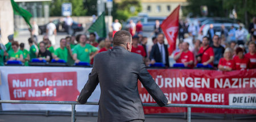
M 60 39 L 60 48 L 57 48 L 56 51 L 54 52 L 54 58 L 55 60 L 65 60 L 66 62 L 68 61 L 68 49 L 66 48 L 66 40 L 65 39 Z

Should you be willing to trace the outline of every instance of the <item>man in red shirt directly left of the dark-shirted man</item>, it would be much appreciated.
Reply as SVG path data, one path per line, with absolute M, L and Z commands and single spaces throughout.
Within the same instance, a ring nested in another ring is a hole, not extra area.
M 201 62 L 203 65 L 212 65 L 214 60 L 213 48 L 209 45 L 209 39 L 207 36 L 203 37 L 202 47 L 199 50 L 199 55 L 197 55 L 197 61 Z M 200 56 L 201 55 L 201 56 Z

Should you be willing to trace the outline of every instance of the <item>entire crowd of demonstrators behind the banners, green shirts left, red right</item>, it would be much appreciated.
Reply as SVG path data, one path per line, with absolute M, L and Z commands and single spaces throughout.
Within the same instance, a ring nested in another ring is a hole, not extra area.
M 187 21 L 180 21 L 179 24 L 179 44 L 173 52 L 174 60 L 177 63 L 183 63 L 187 68 L 195 68 L 197 64 L 210 65 L 214 69 L 230 71 L 256 68 L 255 54 L 255 18 L 250 24 L 249 31 L 251 38 L 249 41 L 244 39 L 242 26 L 236 30 L 234 26 L 228 30 L 224 25 L 221 26 L 221 35 L 216 35 L 213 24 L 210 24 L 209 31 L 204 37 L 199 37 L 199 25 L 189 25 Z M 51 62 L 52 59 L 64 60 L 69 66 L 74 63 L 88 62 L 93 64 L 94 56 L 99 52 L 112 49 L 114 31 L 121 30 L 122 25 L 115 20 L 113 23 L 113 32 L 109 32 L 105 39 L 96 39 L 95 33 L 86 35 L 67 36 L 60 40 L 60 48 L 53 48 L 55 41 L 49 36 L 56 35 L 56 27 L 47 27 L 47 33 L 43 36 L 43 41 L 38 43 L 33 31 L 31 38 L 28 39 L 30 50 L 24 49 L 24 44 L 17 44 L 13 35 L 8 36 L 9 43 L 1 46 L 0 65 L 3 60 L 20 60 L 25 65 L 33 58 Z M 168 68 L 169 54 L 168 45 L 164 44 L 164 34 L 161 33 L 160 23 L 155 22 L 152 45 L 148 45 L 148 37 L 143 36 L 142 23 L 137 24 L 130 20 L 129 32 L 132 36 L 131 52 L 141 54 L 147 66 L 162 63 Z M 40 39 L 38 39 L 40 40 Z M 77 41 L 77 43 L 76 43 Z M 20 47 L 20 48 L 19 48 Z M 36 49 L 38 47 L 38 51 Z

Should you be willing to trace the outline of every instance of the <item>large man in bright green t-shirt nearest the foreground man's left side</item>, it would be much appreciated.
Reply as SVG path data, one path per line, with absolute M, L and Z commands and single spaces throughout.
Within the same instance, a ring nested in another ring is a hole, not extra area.
M 79 44 L 77 44 L 73 49 L 73 59 L 75 63 L 88 62 L 94 58 L 94 56 L 98 53 L 98 49 L 93 47 L 90 44 L 86 44 L 85 35 L 81 35 L 79 38 Z

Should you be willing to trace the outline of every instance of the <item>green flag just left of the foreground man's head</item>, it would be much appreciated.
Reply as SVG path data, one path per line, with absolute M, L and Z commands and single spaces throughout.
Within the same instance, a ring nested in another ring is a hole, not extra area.
M 89 32 L 97 32 L 99 37 L 106 37 L 105 12 L 88 29 Z

